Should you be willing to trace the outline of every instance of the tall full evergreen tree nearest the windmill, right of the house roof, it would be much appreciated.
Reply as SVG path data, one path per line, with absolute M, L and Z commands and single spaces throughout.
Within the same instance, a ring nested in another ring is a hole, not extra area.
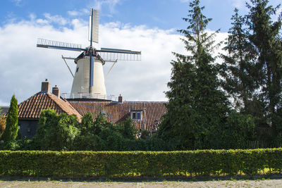
M 189 55 L 173 53 L 168 113 L 160 125 L 158 136 L 176 143 L 180 149 L 216 147 L 228 113 L 228 100 L 221 91 L 219 65 L 214 63 L 212 50 L 216 32 L 206 30 L 211 18 L 202 14 L 200 1 L 190 3 L 186 30 L 179 30 Z

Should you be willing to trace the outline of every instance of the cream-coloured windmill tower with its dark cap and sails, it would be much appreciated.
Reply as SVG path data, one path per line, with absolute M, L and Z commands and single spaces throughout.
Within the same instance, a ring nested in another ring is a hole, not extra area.
M 99 42 L 99 10 L 91 8 L 89 25 L 88 40 L 90 41 L 90 46 L 86 48 L 82 48 L 80 44 L 56 42 L 47 39 L 37 39 L 37 47 L 82 51 L 77 58 L 64 58 L 62 56 L 65 63 L 66 59 L 73 59 L 76 64 L 75 75 L 72 74 L 73 86 L 70 97 L 74 99 L 106 99 L 103 65 L 106 62 L 112 62 L 111 68 L 113 68 L 117 61 L 140 61 L 141 51 L 108 48 L 95 49 L 93 42 L 97 44 Z

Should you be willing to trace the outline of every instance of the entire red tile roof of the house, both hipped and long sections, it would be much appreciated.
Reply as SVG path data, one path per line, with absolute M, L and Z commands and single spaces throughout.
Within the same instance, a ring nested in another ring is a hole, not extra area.
M 42 110 L 51 108 L 56 113 L 74 114 L 80 121 L 85 113 L 96 118 L 103 111 L 109 122 L 117 124 L 130 117 L 131 111 L 140 111 L 141 120 L 133 120 L 136 130 L 146 128 L 155 131 L 161 123 L 161 116 L 167 112 L 166 102 L 128 102 L 116 101 L 67 101 L 54 94 L 39 92 L 18 105 L 18 118 L 38 119 Z

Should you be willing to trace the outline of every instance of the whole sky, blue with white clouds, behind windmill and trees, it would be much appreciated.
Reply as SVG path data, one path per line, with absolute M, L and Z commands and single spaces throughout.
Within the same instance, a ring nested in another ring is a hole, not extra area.
M 276 6 L 280 0 L 270 2 Z M 1 0 L 0 106 L 8 106 L 13 94 L 20 103 L 40 92 L 45 79 L 61 93 L 71 92 L 73 78 L 61 56 L 76 57 L 80 52 L 37 48 L 37 38 L 89 46 L 90 8 L 100 10 L 97 49 L 142 51 L 142 61 L 114 65 L 105 80 L 107 94 L 121 94 L 125 101 L 167 101 L 171 52 L 187 53 L 177 30 L 187 27 L 181 18 L 188 15 L 188 4 L 189 0 Z M 234 8 L 247 13 L 244 0 L 202 0 L 201 5 L 204 15 L 213 18 L 207 29 L 220 29 L 216 41 L 228 36 Z M 75 63 L 68 64 L 74 71 Z M 105 75 L 110 67 L 111 63 L 104 65 Z

